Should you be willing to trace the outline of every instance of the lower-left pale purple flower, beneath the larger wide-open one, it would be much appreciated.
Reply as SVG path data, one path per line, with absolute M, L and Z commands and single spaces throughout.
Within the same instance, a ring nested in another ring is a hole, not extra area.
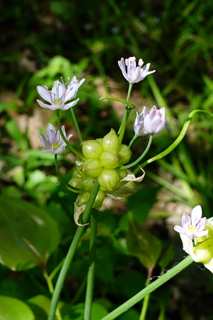
M 66 136 L 64 125 L 62 125 L 61 129 L 66 140 L 69 141 L 69 139 L 73 134 L 69 134 L 68 136 Z M 41 150 L 42 152 L 60 154 L 65 150 L 66 143 L 62 139 L 59 130 L 56 132 L 54 126 L 51 123 L 48 123 L 46 126 L 47 138 L 41 133 L 38 133 L 38 134 L 39 134 L 41 143 L 45 146 L 45 149 Z

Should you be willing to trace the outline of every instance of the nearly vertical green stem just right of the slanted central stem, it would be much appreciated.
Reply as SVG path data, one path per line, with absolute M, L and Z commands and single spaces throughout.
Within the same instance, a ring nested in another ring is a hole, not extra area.
M 93 210 L 90 220 L 90 266 L 87 275 L 86 299 L 84 307 L 84 320 L 90 320 L 91 306 L 93 297 L 93 287 L 95 278 L 95 257 L 96 257 L 96 239 L 97 239 L 97 210 Z

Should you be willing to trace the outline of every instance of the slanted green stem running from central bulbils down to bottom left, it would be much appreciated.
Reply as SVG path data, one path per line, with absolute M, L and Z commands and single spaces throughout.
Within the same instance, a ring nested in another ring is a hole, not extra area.
M 94 183 L 94 186 L 93 186 L 93 189 L 91 191 L 89 200 L 87 202 L 86 208 L 85 208 L 84 213 L 83 213 L 84 223 L 87 221 L 87 219 L 89 217 L 90 211 L 92 209 L 92 206 L 93 206 L 93 203 L 95 201 L 95 198 L 96 198 L 96 195 L 98 193 L 99 188 L 100 188 L 100 185 L 99 185 L 99 183 L 98 183 L 98 181 L 96 179 L 95 183 Z M 58 279 L 57 279 L 57 282 L 56 282 L 56 285 L 55 285 L 55 289 L 54 289 L 54 292 L 53 292 L 53 295 L 52 295 L 52 300 L 51 300 L 48 320 L 53 320 L 54 319 L 54 314 L 55 314 L 55 310 L 56 310 L 56 307 L 57 307 L 57 304 L 58 304 L 58 300 L 59 300 L 59 297 L 60 297 L 61 289 L 62 289 L 64 280 L 65 280 L 67 271 L 69 269 L 70 263 L 71 263 L 71 261 L 73 259 L 73 256 L 74 256 L 75 251 L 76 251 L 77 246 L 78 246 L 78 243 L 80 241 L 80 238 L 81 238 L 81 236 L 82 236 L 82 234 L 84 232 L 84 229 L 85 229 L 85 226 L 78 226 L 78 228 L 77 228 L 77 230 L 75 232 L 74 238 L 72 240 L 72 243 L 70 245 L 69 251 L 68 251 L 68 253 L 66 255 L 66 258 L 64 260 L 63 266 L 61 268 L 61 271 L 59 273 L 59 276 L 58 276 Z

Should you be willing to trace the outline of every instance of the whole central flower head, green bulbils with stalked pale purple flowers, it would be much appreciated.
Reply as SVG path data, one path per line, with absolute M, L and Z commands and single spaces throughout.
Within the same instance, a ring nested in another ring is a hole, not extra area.
M 155 70 L 149 71 L 150 63 L 142 67 L 142 59 L 139 59 L 137 66 L 135 57 L 125 59 L 125 62 L 124 59 L 121 58 L 121 60 L 118 61 L 118 64 L 124 77 L 129 81 L 130 88 L 126 100 L 126 102 L 128 102 L 132 85 L 135 82 L 143 80 L 148 74 L 155 72 Z M 38 85 L 38 93 L 48 103 L 44 103 L 40 100 L 37 101 L 41 107 L 49 108 L 57 112 L 58 123 L 60 123 L 59 110 L 67 110 L 70 108 L 73 117 L 75 117 L 72 107 L 79 100 L 79 98 L 75 98 L 77 96 L 78 88 L 84 80 L 85 79 L 83 78 L 78 81 L 76 77 L 73 76 L 72 79 L 68 78 L 68 83 L 64 83 L 63 78 L 61 77 L 61 82 L 54 81 L 51 90 L 47 87 Z M 138 115 L 137 112 L 134 123 L 135 136 L 132 138 L 129 146 L 127 146 L 122 143 L 122 137 L 130 111 L 128 110 L 128 103 L 125 110 L 127 111 L 124 113 L 126 114 L 126 118 L 124 117 L 121 123 L 120 132 L 117 134 L 112 128 L 103 138 L 82 141 L 81 146 L 83 155 L 78 153 L 78 151 L 69 144 L 69 139 L 72 135 L 69 134 L 66 136 L 64 126 L 60 127 L 59 125 L 59 130 L 56 132 L 54 126 L 49 123 L 46 127 L 47 138 L 43 134 L 39 134 L 40 140 L 45 147 L 42 152 L 51 152 L 55 154 L 55 159 L 57 159 L 57 154 L 62 153 L 68 144 L 69 148 L 80 158 L 80 160 L 75 161 L 76 168 L 73 171 L 72 178 L 68 182 L 69 189 L 79 193 L 75 202 L 74 213 L 74 219 L 78 225 L 81 225 L 78 223 L 78 218 L 86 207 L 86 203 L 88 202 L 96 179 L 100 188 L 93 203 L 94 208 L 101 207 L 106 195 L 113 198 L 121 198 L 133 192 L 130 188 L 124 186 L 124 184 L 128 181 L 141 181 L 145 172 L 143 171 L 144 173 L 142 176 L 136 178 L 135 175 L 127 169 L 137 164 L 143 158 L 151 145 L 153 134 L 159 132 L 165 126 L 164 108 L 158 110 L 156 106 L 154 106 L 148 112 L 147 108 L 144 107 L 140 115 Z M 76 122 L 77 121 L 75 121 L 75 123 Z M 79 128 L 76 127 L 76 129 L 78 130 Z M 133 141 L 139 135 L 148 134 L 150 134 L 150 140 L 144 153 L 132 164 L 125 165 L 130 161 L 132 155 L 130 146 Z M 82 139 L 80 138 L 80 140 Z M 60 174 L 59 170 L 58 173 Z

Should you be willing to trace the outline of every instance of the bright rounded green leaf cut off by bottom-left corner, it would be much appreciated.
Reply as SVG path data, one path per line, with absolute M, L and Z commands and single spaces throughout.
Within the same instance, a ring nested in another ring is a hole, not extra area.
M 0 320 L 35 320 L 35 316 L 23 301 L 0 295 Z

